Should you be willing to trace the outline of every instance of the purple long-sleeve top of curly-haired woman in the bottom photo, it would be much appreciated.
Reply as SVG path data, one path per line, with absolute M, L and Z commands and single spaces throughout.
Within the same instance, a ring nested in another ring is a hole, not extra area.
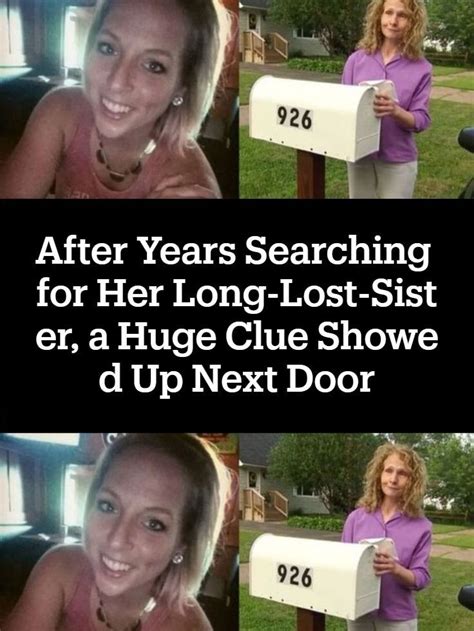
M 391 574 L 381 576 L 380 607 L 374 613 L 384 620 L 412 620 L 417 617 L 413 591 L 423 589 L 431 581 L 431 522 L 426 517 L 407 517 L 402 513 L 384 522 L 380 509 L 369 513 L 365 508 L 357 508 L 347 517 L 343 542 L 359 543 L 378 537 L 393 539 L 398 562 L 413 572 L 415 585 L 407 587 Z

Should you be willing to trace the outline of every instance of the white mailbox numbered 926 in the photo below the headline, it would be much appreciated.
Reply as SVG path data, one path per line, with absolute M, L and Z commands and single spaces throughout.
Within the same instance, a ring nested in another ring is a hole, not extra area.
M 355 620 L 379 607 L 375 546 L 264 534 L 250 550 L 251 596 Z

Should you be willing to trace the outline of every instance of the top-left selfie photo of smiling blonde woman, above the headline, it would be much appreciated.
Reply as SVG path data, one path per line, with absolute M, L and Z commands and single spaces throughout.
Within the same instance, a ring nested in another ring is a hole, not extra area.
M 237 151 L 236 95 L 218 106 L 237 54 L 233 11 L 220 0 L 102 0 L 76 13 L 57 4 L 22 5 L 6 24 L 36 43 L 21 39 L 31 67 L 0 85 L 13 121 L 0 130 L 0 197 L 215 199 L 235 189 L 236 162 L 221 182 L 211 166 L 234 164 Z M 205 137 L 216 118 L 218 159 Z

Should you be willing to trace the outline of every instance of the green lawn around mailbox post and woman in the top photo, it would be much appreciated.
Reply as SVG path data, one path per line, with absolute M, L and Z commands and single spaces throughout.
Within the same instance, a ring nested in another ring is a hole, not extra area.
M 430 109 L 432 125 L 417 136 L 419 173 L 415 197 L 455 198 L 474 171 L 473 156 L 457 143 L 459 131 L 472 125 L 472 106 L 433 100 Z M 248 127 L 241 127 L 242 198 L 295 198 L 295 165 L 293 149 L 250 139 Z M 347 197 L 346 165 L 341 160 L 326 160 L 326 197 Z

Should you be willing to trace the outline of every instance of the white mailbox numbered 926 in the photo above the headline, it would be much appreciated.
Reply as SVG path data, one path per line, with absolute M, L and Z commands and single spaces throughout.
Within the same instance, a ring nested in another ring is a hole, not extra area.
M 251 138 L 355 162 L 379 149 L 375 88 L 266 75 L 250 92 Z

